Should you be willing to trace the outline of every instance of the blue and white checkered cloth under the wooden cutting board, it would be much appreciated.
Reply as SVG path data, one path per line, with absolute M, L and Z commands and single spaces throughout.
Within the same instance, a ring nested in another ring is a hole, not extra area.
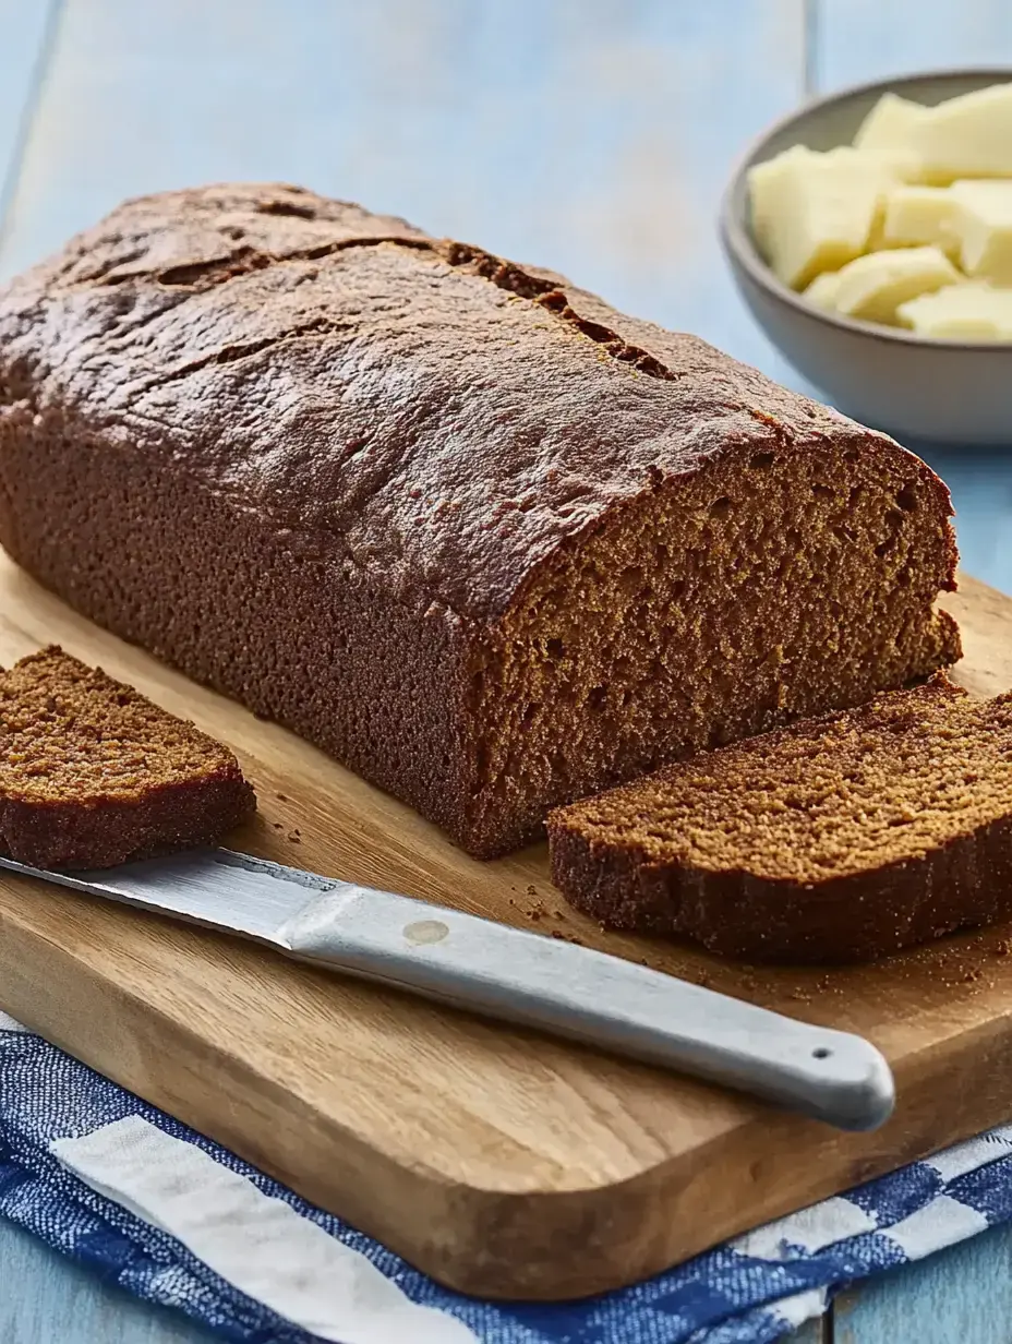
M 1012 1218 L 1012 1125 L 581 1302 L 461 1297 L 0 1015 L 0 1215 L 245 1344 L 765 1344 Z

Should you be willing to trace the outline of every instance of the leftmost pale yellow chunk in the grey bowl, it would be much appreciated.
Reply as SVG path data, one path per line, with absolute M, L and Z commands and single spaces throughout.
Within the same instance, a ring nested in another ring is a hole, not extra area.
M 765 254 L 775 274 L 804 289 L 821 271 L 860 257 L 894 181 L 886 164 L 849 145 L 782 164 L 775 188 L 765 198 L 759 191 L 767 211 Z

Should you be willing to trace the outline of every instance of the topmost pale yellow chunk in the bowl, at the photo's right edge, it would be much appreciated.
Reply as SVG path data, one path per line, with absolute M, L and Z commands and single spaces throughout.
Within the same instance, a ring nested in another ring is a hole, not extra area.
M 909 128 L 923 181 L 1012 177 L 1012 83 L 990 85 L 930 108 Z

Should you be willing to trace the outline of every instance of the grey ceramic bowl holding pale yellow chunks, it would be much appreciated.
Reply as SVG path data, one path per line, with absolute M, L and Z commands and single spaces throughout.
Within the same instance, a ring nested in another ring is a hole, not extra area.
M 934 105 L 1012 81 L 1012 70 L 953 70 L 861 85 L 808 103 L 755 141 L 720 207 L 720 238 L 753 316 L 839 410 L 900 439 L 1012 445 L 1012 343 L 933 340 L 823 313 L 781 284 L 749 224 L 747 173 L 792 145 L 849 144 L 887 90 Z

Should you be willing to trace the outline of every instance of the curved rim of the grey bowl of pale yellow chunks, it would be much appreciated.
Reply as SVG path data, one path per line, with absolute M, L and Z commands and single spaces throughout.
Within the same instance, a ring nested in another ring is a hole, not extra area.
M 738 159 L 738 163 L 731 172 L 731 177 L 720 198 L 720 242 L 724 251 L 749 273 L 749 277 L 759 285 L 761 289 L 765 289 L 773 298 L 779 300 L 789 308 L 794 308 L 805 317 L 823 323 L 825 327 L 835 327 L 839 331 L 853 332 L 856 336 L 878 340 L 886 345 L 909 345 L 921 349 L 988 351 L 990 353 L 1004 351 L 1007 355 L 1012 355 L 1012 341 L 945 340 L 938 336 L 917 336 L 914 332 L 909 332 L 902 327 L 883 327 L 878 323 L 863 323 L 853 317 L 844 317 L 840 313 L 827 313 L 821 308 L 816 308 L 814 304 L 806 304 L 797 290 L 790 289 L 789 285 L 785 285 L 784 281 L 778 280 L 770 267 L 762 261 L 749 228 L 738 219 L 734 210 L 734 200 L 738 195 L 742 179 L 754 163 L 763 163 L 759 155 L 766 144 L 774 138 L 774 136 L 789 130 L 792 125 L 802 121 L 809 116 L 809 113 L 818 112 L 821 108 L 832 108 L 833 103 L 837 102 L 849 102 L 860 94 L 900 93 L 904 87 L 923 83 L 926 79 L 981 79 L 984 81 L 981 87 L 986 87 L 986 82 L 1012 83 L 1012 66 L 953 66 L 945 70 L 922 70 L 917 74 L 894 75 L 888 79 L 871 79 L 867 83 L 848 85 L 848 87 L 839 89 L 836 93 L 827 94 L 824 98 L 812 98 L 794 112 L 788 113 L 785 117 L 779 117 L 773 122 L 773 125 L 767 126 L 751 141 L 745 153 Z

